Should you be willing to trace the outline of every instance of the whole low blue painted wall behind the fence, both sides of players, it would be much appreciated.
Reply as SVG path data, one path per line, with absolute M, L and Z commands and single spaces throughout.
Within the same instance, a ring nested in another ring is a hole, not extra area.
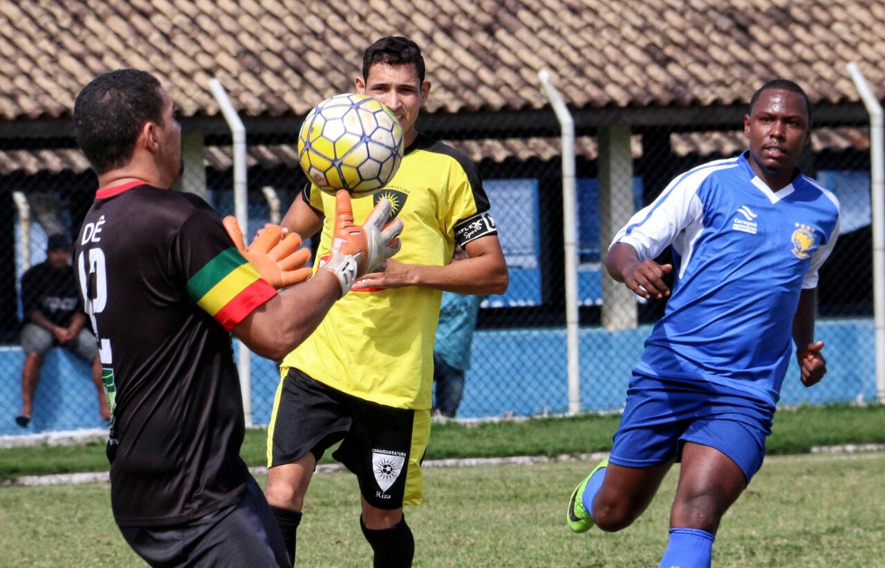
M 781 404 L 850 402 L 858 395 L 875 398 L 873 320 L 827 319 L 818 322 L 817 338 L 827 346 L 827 378 L 804 388 L 796 365 L 790 367 Z M 630 370 L 642 353 L 650 326 L 609 332 L 581 329 L 581 408 L 618 410 L 624 402 Z M 748 338 L 748 341 L 752 341 Z M 24 355 L 16 347 L 0 348 L 0 435 L 30 434 L 102 426 L 89 365 L 62 349 L 54 349 L 42 369 L 35 395 L 34 418 L 21 428 L 20 376 Z M 266 424 L 273 393 L 280 380 L 272 361 L 253 356 L 252 412 L 256 424 Z M 467 372 L 461 418 L 533 415 L 568 409 L 566 332 L 561 329 L 521 329 L 476 334 L 473 369 Z

